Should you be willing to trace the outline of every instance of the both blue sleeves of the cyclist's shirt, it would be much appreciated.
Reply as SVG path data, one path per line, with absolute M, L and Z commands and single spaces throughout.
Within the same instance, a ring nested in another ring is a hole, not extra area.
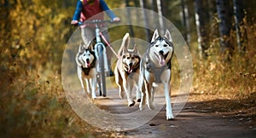
M 77 8 L 75 10 L 75 13 L 73 14 L 73 20 L 79 20 L 80 18 L 80 14 L 83 10 L 83 3 L 79 0 L 79 2 L 77 3 Z M 108 17 L 113 20 L 113 18 L 115 18 L 115 14 L 113 14 L 113 12 L 111 10 L 109 10 L 107 3 L 104 2 L 104 0 L 100 0 L 100 6 L 102 8 L 103 11 L 105 11 L 108 14 Z

